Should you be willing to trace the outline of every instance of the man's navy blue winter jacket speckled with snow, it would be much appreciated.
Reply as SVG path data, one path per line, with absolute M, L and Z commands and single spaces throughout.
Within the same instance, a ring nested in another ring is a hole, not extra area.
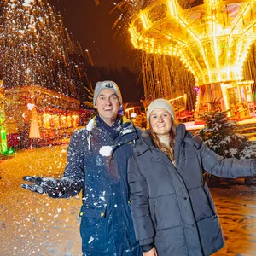
M 130 252 L 127 255 L 141 255 L 132 224 L 127 182 L 128 158 L 139 132 L 129 119 L 122 117 L 121 131 L 115 140 L 96 125 L 95 118 L 86 128 L 73 133 L 63 176 L 73 185 L 63 196 L 77 195 L 82 189 L 79 215 L 84 255 L 120 256 L 121 250 Z

